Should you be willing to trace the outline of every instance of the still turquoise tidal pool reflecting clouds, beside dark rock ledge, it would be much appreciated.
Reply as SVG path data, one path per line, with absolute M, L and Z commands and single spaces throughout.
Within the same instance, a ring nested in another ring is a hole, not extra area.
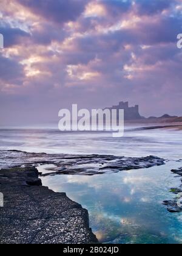
M 99 240 L 110 243 L 181 243 L 182 219 L 169 214 L 162 202 L 179 179 L 169 162 L 137 171 L 98 176 L 42 177 L 54 191 L 66 191 L 89 210 L 90 226 Z

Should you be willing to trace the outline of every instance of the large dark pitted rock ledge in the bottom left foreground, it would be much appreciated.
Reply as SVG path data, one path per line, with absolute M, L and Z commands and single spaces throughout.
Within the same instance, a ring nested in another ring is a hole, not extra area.
M 43 187 L 38 175 L 32 166 L 1 169 L 0 243 L 97 243 L 87 210 Z

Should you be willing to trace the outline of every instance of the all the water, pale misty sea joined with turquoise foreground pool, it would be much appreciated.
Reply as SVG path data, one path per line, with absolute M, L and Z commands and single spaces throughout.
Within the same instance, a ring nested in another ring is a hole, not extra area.
M 182 215 L 169 213 L 162 202 L 173 199 L 170 188 L 180 177 L 182 131 L 126 127 L 124 137 L 108 132 L 62 133 L 56 127 L 0 129 L 0 150 L 59 154 L 109 154 L 126 157 L 156 155 L 166 165 L 95 176 L 42 177 L 43 185 L 66 192 L 89 211 L 90 227 L 102 243 L 182 243 Z M 39 166 L 47 172 L 50 166 Z

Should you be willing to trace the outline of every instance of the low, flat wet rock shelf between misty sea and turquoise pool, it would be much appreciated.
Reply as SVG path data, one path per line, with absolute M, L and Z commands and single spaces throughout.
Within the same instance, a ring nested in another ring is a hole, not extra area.
M 113 155 L 36 154 L 0 151 L 0 168 L 21 165 L 54 165 L 43 176 L 57 174 L 95 175 L 164 165 L 159 157 L 116 157 Z

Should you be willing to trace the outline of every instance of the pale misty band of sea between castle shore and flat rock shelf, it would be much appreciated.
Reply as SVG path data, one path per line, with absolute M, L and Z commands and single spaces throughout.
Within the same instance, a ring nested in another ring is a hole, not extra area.
M 125 127 L 124 137 L 109 132 L 60 132 L 58 127 L 0 127 L 0 150 L 58 154 L 108 154 L 126 157 L 157 155 L 182 158 L 182 130 Z

